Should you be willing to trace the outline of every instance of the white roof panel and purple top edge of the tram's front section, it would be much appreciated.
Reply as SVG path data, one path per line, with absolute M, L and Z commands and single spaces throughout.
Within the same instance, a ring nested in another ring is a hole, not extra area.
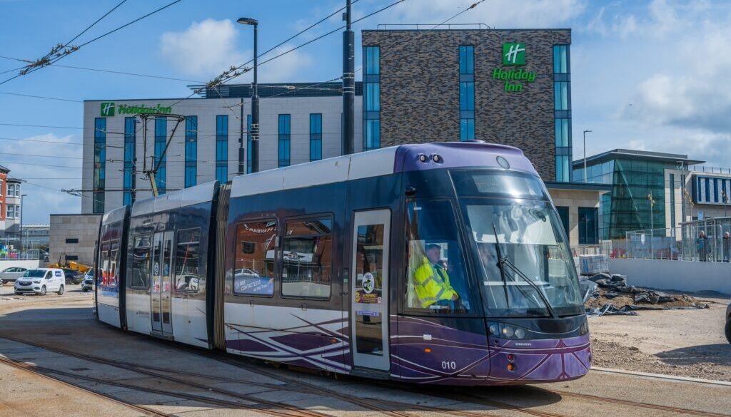
M 426 161 L 420 161 L 421 155 L 428 157 Z M 438 155 L 441 161 L 433 161 L 434 155 Z M 232 181 L 231 197 L 341 183 L 397 172 L 457 167 L 501 169 L 498 156 L 507 159 L 512 170 L 537 175 L 523 151 L 512 146 L 480 141 L 410 144 L 240 175 Z

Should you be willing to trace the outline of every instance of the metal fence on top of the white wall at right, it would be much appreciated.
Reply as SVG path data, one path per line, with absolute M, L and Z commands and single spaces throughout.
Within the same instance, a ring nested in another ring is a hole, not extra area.
M 675 228 L 626 232 L 625 236 L 624 240 L 602 241 L 599 253 L 610 258 L 731 261 L 731 218 L 689 221 Z

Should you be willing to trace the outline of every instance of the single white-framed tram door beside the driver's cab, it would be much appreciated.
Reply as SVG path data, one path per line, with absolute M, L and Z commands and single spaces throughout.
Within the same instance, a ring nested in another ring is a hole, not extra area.
M 390 370 L 388 253 L 390 210 L 355 213 L 350 320 L 353 364 Z

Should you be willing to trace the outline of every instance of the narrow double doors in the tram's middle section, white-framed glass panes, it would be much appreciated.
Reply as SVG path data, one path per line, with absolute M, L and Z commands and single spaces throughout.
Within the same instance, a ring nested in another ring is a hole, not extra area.
M 173 256 L 173 232 L 154 234 L 152 243 L 152 331 L 163 336 L 173 335 L 170 314 L 170 287 Z

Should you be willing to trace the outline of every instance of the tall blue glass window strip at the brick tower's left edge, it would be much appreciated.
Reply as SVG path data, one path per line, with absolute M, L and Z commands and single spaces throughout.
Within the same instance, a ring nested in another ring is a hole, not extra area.
M 363 150 L 381 148 L 381 48 L 363 47 Z

